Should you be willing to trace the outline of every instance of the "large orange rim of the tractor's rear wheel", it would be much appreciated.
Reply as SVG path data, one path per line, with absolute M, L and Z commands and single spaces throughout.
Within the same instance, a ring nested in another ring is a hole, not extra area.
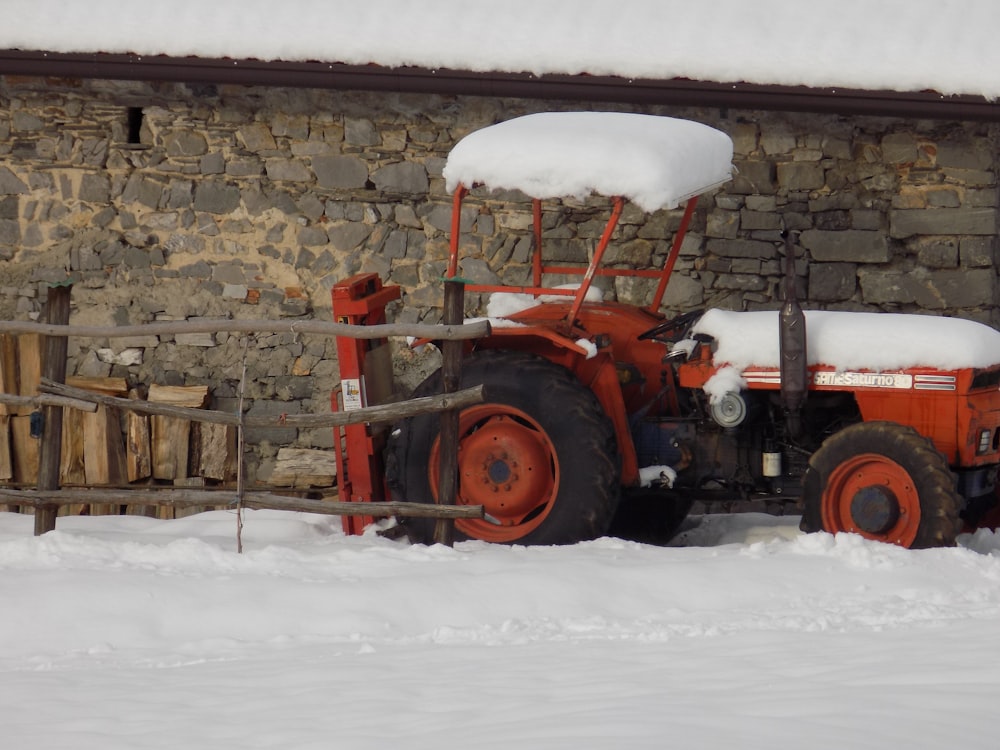
M 531 417 L 503 404 L 462 411 L 458 425 L 459 505 L 482 505 L 498 520 L 459 519 L 463 534 L 488 542 L 513 542 L 548 517 L 559 490 L 559 460 L 544 429 Z M 431 493 L 438 497 L 440 439 L 428 462 Z

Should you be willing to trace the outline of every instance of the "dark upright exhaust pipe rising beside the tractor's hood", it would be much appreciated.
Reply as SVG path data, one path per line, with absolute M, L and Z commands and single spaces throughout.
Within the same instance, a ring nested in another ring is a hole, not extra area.
M 781 406 L 790 437 L 802 431 L 802 404 L 809 393 L 809 372 L 806 359 L 806 316 L 799 305 L 795 290 L 795 241 L 792 233 L 783 230 L 785 239 L 785 304 L 779 316 L 779 348 L 781 352 Z

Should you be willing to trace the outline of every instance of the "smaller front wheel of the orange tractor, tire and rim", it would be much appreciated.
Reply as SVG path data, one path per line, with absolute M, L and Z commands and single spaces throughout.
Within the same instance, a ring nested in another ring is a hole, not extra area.
M 809 459 L 802 500 L 806 532 L 854 532 L 920 549 L 954 546 L 962 528 L 944 456 L 895 422 L 861 422 L 828 438 Z

